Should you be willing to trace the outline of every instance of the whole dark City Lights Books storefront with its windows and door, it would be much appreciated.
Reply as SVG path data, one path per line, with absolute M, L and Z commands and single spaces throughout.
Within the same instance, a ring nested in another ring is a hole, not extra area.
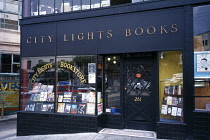
M 202 2 L 24 18 L 17 135 L 117 128 L 208 139 L 210 11 Z

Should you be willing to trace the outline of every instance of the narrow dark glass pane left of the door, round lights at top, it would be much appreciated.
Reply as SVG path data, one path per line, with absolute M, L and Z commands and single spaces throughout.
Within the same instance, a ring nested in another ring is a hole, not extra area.
M 105 104 L 106 112 L 120 108 L 120 57 L 105 57 Z

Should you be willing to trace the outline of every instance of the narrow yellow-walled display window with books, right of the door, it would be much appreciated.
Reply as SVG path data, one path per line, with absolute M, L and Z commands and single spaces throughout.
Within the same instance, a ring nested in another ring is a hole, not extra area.
M 181 51 L 164 51 L 159 57 L 160 120 L 183 123 L 183 68 Z

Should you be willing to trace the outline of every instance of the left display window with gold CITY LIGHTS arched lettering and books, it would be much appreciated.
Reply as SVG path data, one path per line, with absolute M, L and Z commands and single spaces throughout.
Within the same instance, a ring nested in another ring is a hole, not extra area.
M 22 111 L 54 112 L 55 64 L 50 59 L 55 58 L 22 58 Z M 31 67 L 28 67 L 28 62 Z

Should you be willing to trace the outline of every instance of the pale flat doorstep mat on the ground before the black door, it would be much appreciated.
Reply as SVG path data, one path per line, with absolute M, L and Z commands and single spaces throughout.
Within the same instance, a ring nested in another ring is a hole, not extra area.
M 152 131 L 104 128 L 98 133 L 114 134 L 114 135 L 125 135 L 125 136 L 132 136 L 132 137 L 144 137 L 144 138 L 154 138 L 154 139 L 156 139 L 156 133 L 152 132 Z

